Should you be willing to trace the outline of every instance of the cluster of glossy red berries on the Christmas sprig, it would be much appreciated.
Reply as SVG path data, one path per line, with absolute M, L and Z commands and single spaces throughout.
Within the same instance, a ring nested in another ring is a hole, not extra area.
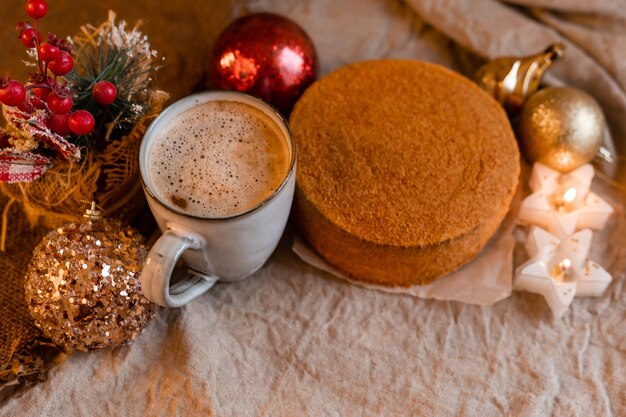
M 47 41 L 42 42 L 38 24 L 47 12 L 45 0 L 27 1 L 26 13 L 34 19 L 34 24 L 20 22 L 17 25 L 18 38 L 26 48 L 34 50 L 38 72 L 30 74 L 26 86 L 9 77 L 0 79 L 0 103 L 17 107 L 26 114 L 46 111 L 45 127 L 54 134 L 89 135 L 96 124 L 94 116 L 87 110 L 73 110 L 76 92 L 62 78 L 74 68 L 71 44 L 51 33 L 48 33 Z M 91 96 L 96 103 L 106 107 L 116 100 L 117 89 L 109 81 L 97 81 L 91 86 Z

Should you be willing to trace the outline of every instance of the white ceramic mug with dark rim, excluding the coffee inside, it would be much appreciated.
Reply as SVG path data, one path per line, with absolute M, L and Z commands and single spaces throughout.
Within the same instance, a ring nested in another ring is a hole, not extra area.
M 148 154 L 154 138 L 169 121 L 208 101 L 248 104 L 268 115 L 289 146 L 290 167 L 280 187 L 257 206 L 227 217 L 197 217 L 158 197 L 148 175 Z M 183 98 L 165 109 L 150 125 L 139 151 L 143 189 L 163 235 L 154 244 L 141 273 L 150 301 L 180 307 L 207 291 L 218 280 L 239 281 L 252 275 L 270 257 L 283 234 L 296 182 L 296 147 L 287 121 L 268 104 L 246 94 L 208 91 Z M 170 287 L 174 266 L 182 257 L 188 272 Z

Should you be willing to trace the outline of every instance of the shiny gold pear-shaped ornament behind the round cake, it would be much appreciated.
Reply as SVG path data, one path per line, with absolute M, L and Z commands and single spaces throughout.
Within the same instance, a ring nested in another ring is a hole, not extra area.
M 536 55 L 494 59 L 478 69 L 475 80 L 509 114 L 517 114 L 526 98 L 539 88 L 543 74 L 564 50 L 565 45 L 557 42 Z

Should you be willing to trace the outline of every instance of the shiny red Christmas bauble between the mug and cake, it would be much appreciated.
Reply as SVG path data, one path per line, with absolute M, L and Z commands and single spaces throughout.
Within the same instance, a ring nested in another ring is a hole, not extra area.
M 258 13 L 237 19 L 222 32 L 210 65 L 213 88 L 251 94 L 289 114 L 315 81 L 317 53 L 296 23 Z

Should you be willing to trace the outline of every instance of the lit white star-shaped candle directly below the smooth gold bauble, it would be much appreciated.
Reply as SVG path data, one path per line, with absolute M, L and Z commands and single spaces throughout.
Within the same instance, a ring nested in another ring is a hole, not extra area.
M 520 222 L 541 226 L 561 239 L 577 230 L 604 228 L 613 207 L 589 191 L 594 175 L 590 164 L 561 174 L 536 163 L 530 179 L 533 193 L 520 206 Z

